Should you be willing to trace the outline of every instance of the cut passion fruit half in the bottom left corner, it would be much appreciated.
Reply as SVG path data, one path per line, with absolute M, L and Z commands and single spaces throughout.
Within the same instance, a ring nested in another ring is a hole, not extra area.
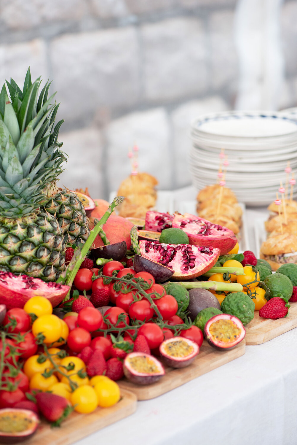
M 29 409 L 0 409 L 0 443 L 15 444 L 25 441 L 36 433 L 40 420 Z

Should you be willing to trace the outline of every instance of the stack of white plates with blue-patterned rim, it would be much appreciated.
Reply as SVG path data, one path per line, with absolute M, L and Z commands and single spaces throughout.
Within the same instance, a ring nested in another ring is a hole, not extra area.
M 237 199 L 263 206 L 285 185 L 288 161 L 297 178 L 297 120 L 277 112 L 227 111 L 198 117 L 192 123 L 193 146 L 188 162 L 197 190 L 217 182 L 219 154 L 229 166 L 226 186 Z M 297 198 L 295 186 L 294 198 Z

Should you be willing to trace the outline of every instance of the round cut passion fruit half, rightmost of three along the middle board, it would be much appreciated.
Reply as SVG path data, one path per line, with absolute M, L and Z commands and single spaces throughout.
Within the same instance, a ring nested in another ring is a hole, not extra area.
M 245 328 L 239 318 L 218 314 L 206 322 L 204 336 L 216 349 L 231 349 L 245 338 Z

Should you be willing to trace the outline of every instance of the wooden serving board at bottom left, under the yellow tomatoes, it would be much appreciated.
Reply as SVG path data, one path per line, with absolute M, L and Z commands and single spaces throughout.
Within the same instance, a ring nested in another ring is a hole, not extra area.
M 137 398 L 130 391 L 121 388 L 122 399 L 110 408 L 97 408 L 90 414 L 73 412 L 60 428 L 42 421 L 36 434 L 22 442 L 24 445 L 69 445 L 104 426 L 117 422 L 136 411 Z

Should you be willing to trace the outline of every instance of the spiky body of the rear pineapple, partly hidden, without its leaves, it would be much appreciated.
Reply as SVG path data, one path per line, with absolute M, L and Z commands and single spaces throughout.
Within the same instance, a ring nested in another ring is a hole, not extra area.
M 44 203 L 44 209 L 57 219 L 65 244 L 79 245 L 86 242 L 90 234 L 89 220 L 75 192 L 61 188 L 54 190 L 48 202 Z

